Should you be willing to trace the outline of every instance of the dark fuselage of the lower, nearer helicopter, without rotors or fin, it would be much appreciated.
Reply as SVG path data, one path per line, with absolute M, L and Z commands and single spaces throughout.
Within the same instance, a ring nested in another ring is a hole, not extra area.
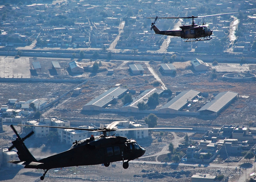
M 65 152 L 37 161 L 36 166 L 28 164 L 25 168 L 53 169 L 70 166 L 107 164 L 117 161 L 134 160 L 141 157 L 145 149 L 134 140 L 122 136 L 91 137 L 74 142 Z

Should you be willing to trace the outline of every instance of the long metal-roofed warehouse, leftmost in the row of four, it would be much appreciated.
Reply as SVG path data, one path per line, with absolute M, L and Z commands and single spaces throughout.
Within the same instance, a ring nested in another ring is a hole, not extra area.
M 97 98 L 83 105 L 82 110 L 101 111 L 102 108 L 105 108 L 109 104 L 117 102 L 117 100 L 123 97 L 123 95 L 126 94 L 128 90 L 129 89 L 124 87 L 113 87 Z

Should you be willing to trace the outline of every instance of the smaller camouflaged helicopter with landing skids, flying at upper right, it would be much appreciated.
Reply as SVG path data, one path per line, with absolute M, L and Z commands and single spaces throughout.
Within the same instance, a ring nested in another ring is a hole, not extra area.
M 235 12 L 239 13 L 239 12 Z M 212 35 L 212 30 L 210 29 L 209 25 L 206 23 L 203 23 L 201 26 L 198 26 L 194 22 L 194 18 L 202 18 L 207 16 L 217 16 L 217 15 L 226 15 L 226 14 L 233 14 L 233 13 L 221 13 L 221 14 L 215 14 L 215 15 L 205 15 L 205 16 L 188 16 L 188 17 L 156 17 L 155 21 L 151 24 L 151 30 L 153 29 L 156 34 L 161 35 L 169 35 L 169 36 L 176 36 L 181 37 L 183 39 L 187 39 L 185 42 L 193 42 L 193 41 L 200 41 L 200 40 L 211 40 L 210 37 Z M 153 17 L 148 17 L 153 18 Z M 191 25 L 183 25 L 180 26 L 181 30 L 163 30 L 160 31 L 156 26 L 155 22 L 158 18 L 170 18 L 170 19 L 176 19 L 176 18 L 192 18 L 192 24 Z M 195 39 L 195 40 L 190 40 Z

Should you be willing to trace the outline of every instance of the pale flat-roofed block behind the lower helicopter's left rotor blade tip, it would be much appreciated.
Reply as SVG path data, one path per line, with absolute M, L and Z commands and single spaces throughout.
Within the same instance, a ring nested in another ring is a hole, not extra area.
M 49 124 L 42 123 L 36 120 L 31 120 L 31 121 L 22 121 L 22 124 L 24 125 L 31 125 L 35 137 L 41 138 L 41 137 L 46 137 L 49 134 L 49 128 L 48 127 L 38 127 L 39 126 L 49 126 Z M 24 127 L 22 127 L 22 132 L 23 132 Z

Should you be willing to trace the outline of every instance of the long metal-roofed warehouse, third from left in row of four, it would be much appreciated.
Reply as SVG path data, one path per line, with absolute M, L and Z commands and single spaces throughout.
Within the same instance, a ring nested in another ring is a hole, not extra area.
M 158 109 L 160 114 L 177 114 L 178 111 L 181 111 L 184 107 L 187 107 L 188 104 L 200 95 L 201 91 L 198 90 L 184 90 L 180 92 L 176 97 L 167 102 L 162 108 Z

